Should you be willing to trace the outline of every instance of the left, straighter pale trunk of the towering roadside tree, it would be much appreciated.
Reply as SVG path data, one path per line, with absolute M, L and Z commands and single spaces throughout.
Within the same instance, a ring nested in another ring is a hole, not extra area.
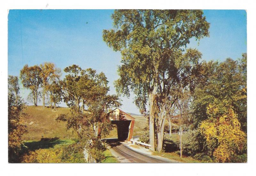
M 154 95 L 149 94 L 149 144 L 150 149 L 155 151 L 155 113 L 154 113 Z

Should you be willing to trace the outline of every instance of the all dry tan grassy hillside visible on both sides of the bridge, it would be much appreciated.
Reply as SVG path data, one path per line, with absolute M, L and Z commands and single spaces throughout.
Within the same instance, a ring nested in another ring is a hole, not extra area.
M 66 130 L 66 122 L 57 122 L 55 119 L 59 114 L 66 114 L 69 112 L 69 108 L 59 107 L 56 110 L 43 106 L 27 106 L 24 112 L 25 123 L 27 125 L 28 133 L 23 135 L 24 140 L 40 140 L 42 136 L 44 138 L 59 137 L 60 139 L 72 139 L 76 137 L 76 133 L 72 134 L 72 130 Z M 133 136 L 143 135 L 144 128 L 148 125 L 148 119 L 140 115 L 132 115 L 135 118 Z M 166 120 L 165 125 L 169 123 Z M 177 126 L 172 123 L 173 127 Z M 168 128 L 167 128 L 168 129 Z M 117 137 L 117 130 L 110 131 L 108 137 Z M 102 137 L 102 138 L 105 138 Z

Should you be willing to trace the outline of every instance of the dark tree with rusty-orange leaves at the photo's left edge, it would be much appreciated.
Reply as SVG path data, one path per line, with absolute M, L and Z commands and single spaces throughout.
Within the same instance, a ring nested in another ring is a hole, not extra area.
M 27 132 L 23 120 L 24 101 L 20 98 L 17 76 L 8 76 L 8 161 L 19 162 L 22 135 Z

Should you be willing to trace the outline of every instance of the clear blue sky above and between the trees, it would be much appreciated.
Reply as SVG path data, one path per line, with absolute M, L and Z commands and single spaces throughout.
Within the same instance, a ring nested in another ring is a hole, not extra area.
M 108 77 L 110 94 L 118 78 L 121 54 L 102 40 L 102 30 L 112 28 L 113 10 L 10 10 L 8 15 L 8 74 L 19 76 L 25 64 L 53 62 L 63 69 L 72 64 L 93 68 Z M 234 60 L 247 51 L 246 11 L 204 10 L 210 37 L 191 40 L 204 60 Z M 64 75 L 63 75 L 64 76 Z M 20 86 L 23 88 L 22 86 Z M 21 90 L 27 99 L 29 91 Z M 121 97 L 126 112 L 139 113 L 133 96 Z M 39 103 L 40 105 L 40 103 Z M 65 106 L 61 103 L 60 106 Z

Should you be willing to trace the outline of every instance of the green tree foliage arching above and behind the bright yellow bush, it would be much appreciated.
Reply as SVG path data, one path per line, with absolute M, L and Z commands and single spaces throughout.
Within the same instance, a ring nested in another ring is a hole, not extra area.
M 243 54 L 246 56 L 246 54 Z M 207 119 L 207 107 L 214 100 L 227 101 L 238 115 L 241 128 L 247 128 L 246 57 L 240 64 L 232 59 L 205 65 L 205 81 L 198 84 L 193 97 L 194 127 Z M 243 67 L 243 71 L 241 69 Z

